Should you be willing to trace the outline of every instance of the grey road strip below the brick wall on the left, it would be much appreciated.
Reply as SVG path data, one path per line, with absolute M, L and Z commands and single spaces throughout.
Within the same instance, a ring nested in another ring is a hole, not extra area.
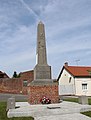
M 0 101 L 7 101 L 8 98 L 14 96 L 16 101 L 26 101 L 27 95 L 21 95 L 21 94 L 3 94 L 0 93 Z

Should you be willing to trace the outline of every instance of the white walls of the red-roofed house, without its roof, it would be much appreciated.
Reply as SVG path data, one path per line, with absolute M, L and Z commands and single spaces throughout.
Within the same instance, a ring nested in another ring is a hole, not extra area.
M 83 83 L 87 83 L 87 90 L 82 90 Z M 68 94 L 91 96 L 91 78 L 74 78 L 64 69 L 59 78 L 59 95 Z

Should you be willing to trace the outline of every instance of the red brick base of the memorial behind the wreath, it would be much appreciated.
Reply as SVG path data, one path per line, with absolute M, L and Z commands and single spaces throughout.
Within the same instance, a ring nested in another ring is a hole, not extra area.
M 30 104 L 40 104 L 40 100 L 44 96 L 49 98 L 51 103 L 58 103 L 58 84 L 28 86 L 28 102 Z

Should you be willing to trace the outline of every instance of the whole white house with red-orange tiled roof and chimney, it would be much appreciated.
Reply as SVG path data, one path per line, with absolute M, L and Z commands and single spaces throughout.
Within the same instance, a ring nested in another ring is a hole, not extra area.
M 59 95 L 91 96 L 91 67 L 65 63 L 57 80 Z

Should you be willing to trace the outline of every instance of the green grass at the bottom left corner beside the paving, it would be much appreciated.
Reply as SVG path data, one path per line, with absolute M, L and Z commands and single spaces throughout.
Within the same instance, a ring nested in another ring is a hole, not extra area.
M 32 117 L 7 118 L 6 102 L 0 102 L 0 120 L 34 120 Z

